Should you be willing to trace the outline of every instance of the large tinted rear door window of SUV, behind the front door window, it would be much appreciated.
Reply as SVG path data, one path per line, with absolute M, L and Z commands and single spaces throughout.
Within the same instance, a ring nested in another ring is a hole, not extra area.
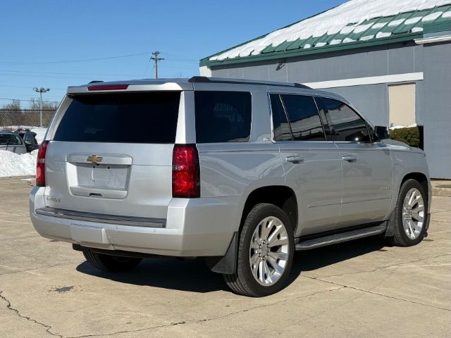
M 297 141 L 324 141 L 323 125 L 311 96 L 281 95 L 290 119 L 293 139 Z

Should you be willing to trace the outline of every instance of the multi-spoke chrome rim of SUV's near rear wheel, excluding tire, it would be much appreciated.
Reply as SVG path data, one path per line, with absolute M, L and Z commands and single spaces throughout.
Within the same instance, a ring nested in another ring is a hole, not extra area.
M 269 286 L 276 283 L 288 261 L 288 232 L 281 220 L 266 217 L 254 230 L 249 248 L 249 264 L 255 280 Z

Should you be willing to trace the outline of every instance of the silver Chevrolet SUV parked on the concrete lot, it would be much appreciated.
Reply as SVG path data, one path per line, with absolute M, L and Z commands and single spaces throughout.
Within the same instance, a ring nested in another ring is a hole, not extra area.
M 285 287 L 293 251 L 427 235 L 425 154 L 341 96 L 192 77 L 69 87 L 39 149 L 30 216 L 102 270 L 204 257 L 234 292 Z

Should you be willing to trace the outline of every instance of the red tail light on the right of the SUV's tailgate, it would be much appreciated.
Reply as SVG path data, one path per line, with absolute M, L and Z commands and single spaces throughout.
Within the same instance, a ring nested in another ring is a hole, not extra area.
M 199 154 L 195 144 L 175 144 L 172 157 L 172 196 L 200 197 Z

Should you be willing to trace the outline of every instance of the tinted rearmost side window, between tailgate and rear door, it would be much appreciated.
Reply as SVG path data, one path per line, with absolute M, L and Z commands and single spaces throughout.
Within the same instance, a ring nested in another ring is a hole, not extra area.
M 198 143 L 245 142 L 251 133 L 249 92 L 195 92 Z

